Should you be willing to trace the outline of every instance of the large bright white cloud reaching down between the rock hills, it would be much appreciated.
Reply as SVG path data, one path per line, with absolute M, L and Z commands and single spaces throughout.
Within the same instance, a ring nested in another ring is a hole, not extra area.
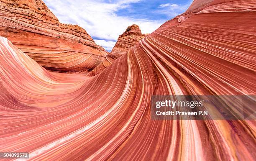
M 135 19 L 116 14 L 118 10 L 128 8 L 131 3 L 139 1 L 109 0 L 109 3 L 106 3 L 104 0 L 44 0 L 61 23 L 81 26 L 90 36 L 100 39 L 96 43 L 108 51 L 128 26 L 137 24 L 142 33 L 152 33 L 164 23 L 160 20 Z

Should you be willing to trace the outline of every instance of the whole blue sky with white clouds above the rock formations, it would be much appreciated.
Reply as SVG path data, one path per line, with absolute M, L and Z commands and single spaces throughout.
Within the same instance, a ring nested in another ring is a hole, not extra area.
M 137 24 L 152 33 L 166 20 L 183 13 L 192 0 L 44 0 L 61 23 L 77 24 L 111 51 L 118 36 Z

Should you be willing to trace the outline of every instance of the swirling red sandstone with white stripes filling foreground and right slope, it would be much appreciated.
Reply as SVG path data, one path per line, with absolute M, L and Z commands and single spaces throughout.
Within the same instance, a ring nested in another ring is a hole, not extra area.
M 0 151 L 33 161 L 254 161 L 255 120 L 151 120 L 152 95 L 256 94 L 255 0 L 197 3 L 94 77 L 48 72 L 0 38 Z

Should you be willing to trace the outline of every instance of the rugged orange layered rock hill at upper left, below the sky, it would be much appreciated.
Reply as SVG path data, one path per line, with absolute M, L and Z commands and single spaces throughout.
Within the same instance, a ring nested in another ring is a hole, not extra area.
M 83 28 L 60 23 L 42 0 L 0 0 L 0 36 L 52 71 L 85 72 L 107 55 Z

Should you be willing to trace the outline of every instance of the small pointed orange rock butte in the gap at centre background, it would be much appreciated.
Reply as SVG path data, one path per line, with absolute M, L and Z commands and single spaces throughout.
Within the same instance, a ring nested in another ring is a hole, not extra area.
M 115 43 L 110 54 L 106 56 L 102 62 L 90 72 L 89 75 L 94 76 L 102 72 L 108 66 L 118 59 L 123 54 L 126 54 L 138 41 L 146 37 L 148 34 L 141 33 L 141 29 L 138 25 L 131 25 L 125 30 L 125 32 L 118 37 L 118 41 Z

